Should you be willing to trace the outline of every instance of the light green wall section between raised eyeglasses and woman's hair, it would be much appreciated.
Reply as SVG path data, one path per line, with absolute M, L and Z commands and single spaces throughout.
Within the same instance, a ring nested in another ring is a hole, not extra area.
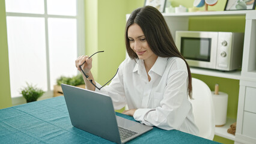
M 100 67 L 97 79 L 103 85 L 114 76 L 125 58 L 126 2 L 120 0 L 111 2 L 99 0 L 98 2 L 99 50 L 105 50 L 105 52 L 99 54 Z

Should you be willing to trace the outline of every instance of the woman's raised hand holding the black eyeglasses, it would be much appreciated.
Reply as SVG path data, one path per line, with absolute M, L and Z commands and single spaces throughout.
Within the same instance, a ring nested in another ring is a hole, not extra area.
M 89 58 L 89 56 L 79 56 L 78 59 L 76 59 L 76 68 L 78 68 L 79 71 L 81 71 L 79 65 L 82 65 L 84 62 L 84 64 L 82 65 L 82 70 L 84 70 L 85 74 L 88 74 L 91 70 L 91 68 L 93 67 L 92 65 L 92 58 Z

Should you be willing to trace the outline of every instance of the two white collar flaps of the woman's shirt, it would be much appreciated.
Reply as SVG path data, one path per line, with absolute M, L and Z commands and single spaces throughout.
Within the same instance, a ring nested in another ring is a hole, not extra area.
M 158 74 L 159 76 L 163 76 L 163 73 L 165 72 L 165 67 L 167 63 L 168 58 L 162 58 L 158 56 L 156 59 L 156 62 L 154 63 L 153 67 L 150 69 L 150 71 L 153 71 L 154 73 Z M 142 59 L 136 59 L 135 67 L 133 68 L 133 72 L 138 71 L 140 74 L 142 70 L 145 69 L 144 61 Z M 149 71 L 149 72 L 150 72 Z

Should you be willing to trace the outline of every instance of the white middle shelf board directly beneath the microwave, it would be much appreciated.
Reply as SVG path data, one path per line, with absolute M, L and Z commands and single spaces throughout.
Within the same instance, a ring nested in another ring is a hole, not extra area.
M 241 71 L 219 71 L 219 70 L 209 70 L 203 68 L 192 68 L 190 67 L 191 73 L 202 74 L 206 76 L 224 77 L 227 79 L 241 79 Z

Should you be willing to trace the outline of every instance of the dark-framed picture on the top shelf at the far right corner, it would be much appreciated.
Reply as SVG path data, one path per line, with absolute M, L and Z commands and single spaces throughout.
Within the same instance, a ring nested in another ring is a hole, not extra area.
M 228 10 L 254 10 L 255 0 L 227 0 L 225 11 Z

